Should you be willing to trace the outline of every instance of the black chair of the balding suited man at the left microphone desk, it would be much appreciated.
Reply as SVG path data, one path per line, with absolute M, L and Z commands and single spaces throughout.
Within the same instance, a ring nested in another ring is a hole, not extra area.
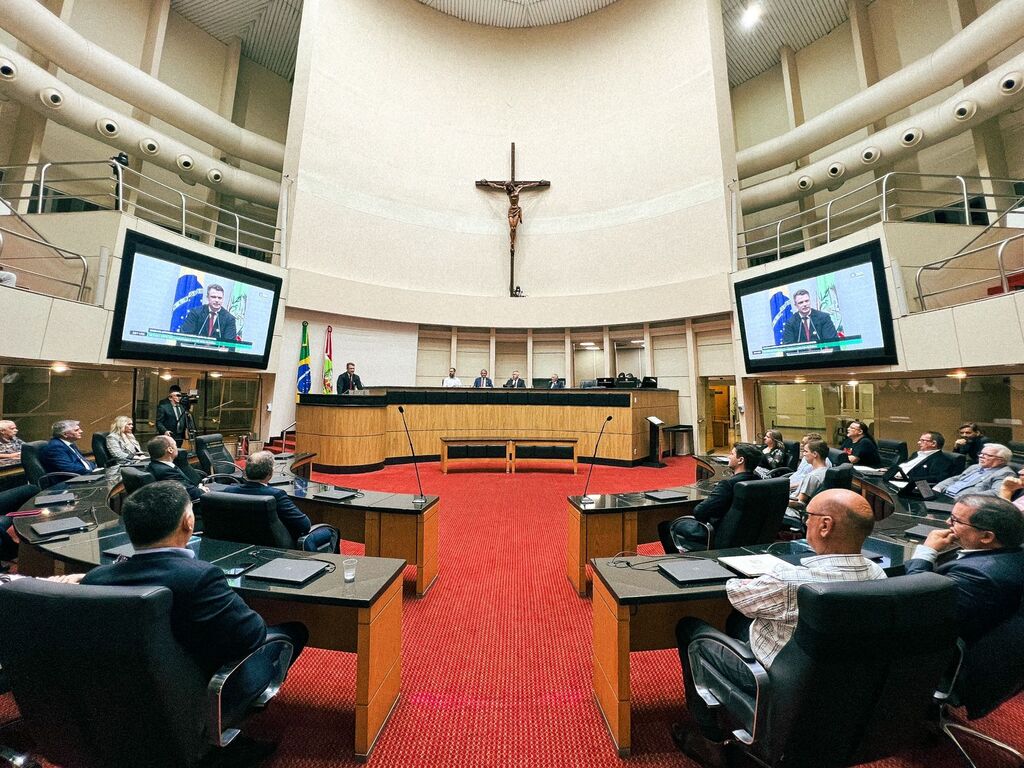
M 278 517 L 278 502 L 272 496 L 217 490 L 203 497 L 203 532 L 227 542 L 331 554 L 338 552 L 341 543 L 338 529 L 326 523 L 313 525 L 308 534 L 293 540 Z

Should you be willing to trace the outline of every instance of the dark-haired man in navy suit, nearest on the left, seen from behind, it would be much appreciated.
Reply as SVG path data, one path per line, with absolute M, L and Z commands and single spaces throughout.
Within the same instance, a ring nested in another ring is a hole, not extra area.
M 208 675 L 244 658 L 265 639 L 288 638 L 294 663 L 308 639 L 298 623 L 267 628 L 227 585 L 223 571 L 197 560 L 188 549 L 196 525 L 191 503 L 175 482 L 155 482 L 132 494 L 121 511 L 135 554 L 93 568 L 82 584 L 166 587 L 173 593 L 171 633 Z M 253 659 L 240 687 L 240 699 L 258 693 L 272 679 L 269 663 Z

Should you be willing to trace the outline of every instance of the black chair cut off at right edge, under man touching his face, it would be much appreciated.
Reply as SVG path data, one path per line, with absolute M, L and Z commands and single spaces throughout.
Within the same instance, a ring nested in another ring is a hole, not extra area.
M 968 720 L 977 720 L 1024 690 L 1024 654 L 1016 650 L 1022 646 L 1024 604 L 988 634 L 971 643 L 959 641 L 959 664 L 952 690 L 940 690 L 935 694 L 941 705 L 942 732 L 949 736 L 971 768 L 976 768 L 975 763 L 953 731 L 985 741 L 1013 755 L 1018 765 L 1024 765 L 1024 755 L 1013 746 L 954 720 L 949 712 L 952 708 L 964 707 Z

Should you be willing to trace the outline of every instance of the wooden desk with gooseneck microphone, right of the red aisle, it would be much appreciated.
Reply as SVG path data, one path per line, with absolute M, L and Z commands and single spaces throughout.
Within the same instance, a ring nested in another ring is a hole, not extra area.
M 702 472 L 705 479 L 693 485 L 664 488 L 685 494 L 685 501 L 658 502 L 643 493 L 568 497 L 565 567 L 577 594 L 581 597 L 587 594 L 587 563 L 593 558 L 636 552 L 638 544 L 658 541 L 659 522 L 689 514 L 715 483 L 731 471 L 724 464 L 699 457 L 697 468 L 697 476 Z

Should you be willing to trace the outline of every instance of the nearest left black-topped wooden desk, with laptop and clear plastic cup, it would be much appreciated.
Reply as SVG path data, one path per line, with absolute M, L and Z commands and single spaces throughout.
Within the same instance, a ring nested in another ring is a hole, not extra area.
M 120 482 L 117 475 L 97 476 L 92 483 L 55 485 L 53 490 L 74 490 L 76 501 L 49 507 L 43 515 L 18 517 L 22 539 L 18 570 L 26 575 L 52 575 L 88 570 L 113 562 L 104 551 L 128 544 L 118 515 L 106 505 Z M 32 508 L 29 501 L 25 508 Z M 73 534 L 65 541 L 34 543 L 31 529 L 41 519 L 78 516 L 92 529 Z M 301 587 L 287 587 L 246 579 L 228 584 L 269 624 L 295 621 L 309 628 L 309 645 L 356 654 L 355 757 L 365 760 L 398 702 L 401 683 L 401 574 L 403 559 L 358 558 L 355 582 L 346 584 L 342 557 L 319 553 L 253 547 L 201 538 L 200 559 L 230 568 L 243 562 L 263 562 L 282 554 L 330 560 L 335 569 Z

